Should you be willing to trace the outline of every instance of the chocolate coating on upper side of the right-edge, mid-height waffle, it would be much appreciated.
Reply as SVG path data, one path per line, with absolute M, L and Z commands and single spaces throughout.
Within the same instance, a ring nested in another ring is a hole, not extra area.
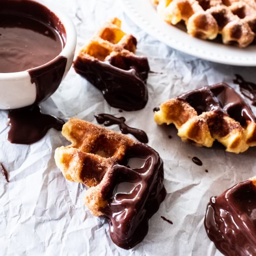
M 177 99 L 187 101 L 198 115 L 202 112 L 216 111 L 229 115 L 244 126 L 247 121 L 256 121 L 255 115 L 243 98 L 226 83 L 204 86 L 182 94 Z

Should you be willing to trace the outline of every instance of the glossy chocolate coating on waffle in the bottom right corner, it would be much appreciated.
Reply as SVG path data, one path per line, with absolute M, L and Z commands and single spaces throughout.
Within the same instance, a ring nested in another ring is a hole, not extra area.
M 256 255 L 256 187 L 247 180 L 211 197 L 204 226 L 226 256 Z

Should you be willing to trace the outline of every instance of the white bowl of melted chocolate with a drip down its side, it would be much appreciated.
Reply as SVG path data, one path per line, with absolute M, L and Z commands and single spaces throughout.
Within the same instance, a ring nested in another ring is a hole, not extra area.
M 72 65 L 75 47 L 72 20 L 50 1 L 0 0 L 0 109 L 51 96 Z

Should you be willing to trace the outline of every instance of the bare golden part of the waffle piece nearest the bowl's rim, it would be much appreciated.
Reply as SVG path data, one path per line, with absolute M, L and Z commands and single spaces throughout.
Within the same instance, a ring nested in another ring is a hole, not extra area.
M 93 39 L 82 47 L 78 57 L 105 61 L 112 55 L 134 55 L 137 40 L 121 30 L 121 20 L 114 18 L 107 22 Z

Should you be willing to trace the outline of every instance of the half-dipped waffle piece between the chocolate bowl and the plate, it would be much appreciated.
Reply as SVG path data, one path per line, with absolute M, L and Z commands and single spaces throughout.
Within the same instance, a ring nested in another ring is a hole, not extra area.
M 74 69 L 96 88 L 108 104 L 126 111 L 139 110 L 148 101 L 146 57 L 134 54 L 137 40 L 121 30 L 117 18 L 106 23 L 74 61 Z

